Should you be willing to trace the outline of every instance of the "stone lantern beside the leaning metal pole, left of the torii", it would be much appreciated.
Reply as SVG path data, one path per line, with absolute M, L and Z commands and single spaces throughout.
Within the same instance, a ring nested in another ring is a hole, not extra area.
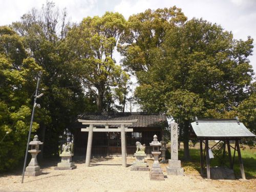
M 29 145 L 31 145 L 31 150 L 28 152 L 31 154 L 32 158 L 29 165 L 26 167 L 25 175 L 27 176 L 38 176 L 42 173 L 36 159 L 37 154 L 41 151 L 39 150 L 39 145 L 41 144 L 43 143 L 38 140 L 37 135 L 34 136 L 33 141 L 29 142 Z

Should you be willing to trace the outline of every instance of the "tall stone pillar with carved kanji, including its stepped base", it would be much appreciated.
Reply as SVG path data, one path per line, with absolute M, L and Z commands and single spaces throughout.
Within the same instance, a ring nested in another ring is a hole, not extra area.
M 184 169 L 178 160 L 178 124 L 175 122 L 170 123 L 170 150 L 170 159 L 166 167 L 167 175 L 184 176 Z

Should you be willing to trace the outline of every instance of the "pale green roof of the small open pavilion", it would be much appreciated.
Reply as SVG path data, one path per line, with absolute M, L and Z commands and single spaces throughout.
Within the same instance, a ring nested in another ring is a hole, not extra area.
M 221 137 L 255 137 L 243 123 L 238 119 L 197 119 L 191 123 L 197 135 L 201 138 L 221 138 Z

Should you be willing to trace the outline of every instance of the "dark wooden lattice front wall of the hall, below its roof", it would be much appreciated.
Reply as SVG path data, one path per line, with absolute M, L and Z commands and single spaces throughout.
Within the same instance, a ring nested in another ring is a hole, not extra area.
M 133 128 L 134 132 L 127 132 L 126 135 L 126 153 L 127 156 L 133 156 L 136 151 L 136 141 L 146 144 L 146 154 L 151 154 L 150 142 L 153 136 L 157 135 L 159 141 L 162 138 L 160 128 L 140 127 Z M 77 129 L 74 133 L 74 154 L 78 156 L 86 155 L 88 132 L 81 132 Z M 120 132 L 94 132 L 92 156 L 121 156 L 121 134 Z

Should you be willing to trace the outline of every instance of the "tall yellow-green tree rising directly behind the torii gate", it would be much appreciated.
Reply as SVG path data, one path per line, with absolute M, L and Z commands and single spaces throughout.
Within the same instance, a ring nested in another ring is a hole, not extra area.
M 70 57 L 73 58 L 71 62 L 76 66 L 84 87 L 97 94 L 98 112 L 104 110 L 106 88 L 116 87 L 120 78 L 126 76 L 113 58 L 125 23 L 121 14 L 106 12 L 102 17 L 84 18 L 71 28 L 67 36 Z

